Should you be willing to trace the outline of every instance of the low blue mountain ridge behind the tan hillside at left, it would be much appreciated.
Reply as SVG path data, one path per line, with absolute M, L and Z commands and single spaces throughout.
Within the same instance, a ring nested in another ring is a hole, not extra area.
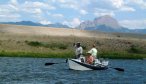
M 61 24 L 61 23 L 55 23 L 55 24 L 44 25 L 44 24 L 35 23 L 35 22 L 32 22 L 32 21 L 1 22 L 1 24 L 15 24 L 15 25 L 26 25 L 26 26 L 44 26 L 44 27 L 69 28 L 69 26 L 63 25 L 63 24 Z

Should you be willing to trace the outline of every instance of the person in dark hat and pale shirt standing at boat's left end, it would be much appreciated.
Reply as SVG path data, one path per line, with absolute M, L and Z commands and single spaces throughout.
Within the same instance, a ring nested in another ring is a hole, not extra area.
M 83 54 L 83 48 L 80 42 L 74 43 L 73 45 L 75 47 L 75 58 L 78 59 Z

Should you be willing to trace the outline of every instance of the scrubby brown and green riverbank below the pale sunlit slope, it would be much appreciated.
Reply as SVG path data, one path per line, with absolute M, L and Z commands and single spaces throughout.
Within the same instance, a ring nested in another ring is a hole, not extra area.
M 110 59 L 146 58 L 146 40 L 120 37 L 61 37 L 61 36 L 23 36 L 1 34 L 0 56 L 5 57 L 45 57 L 72 58 L 74 42 L 81 42 L 85 53 L 93 43 L 97 45 L 98 57 Z M 75 38 L 75 39 L 74 39 Z M 94 40 L 93 40 L 94 39 Z

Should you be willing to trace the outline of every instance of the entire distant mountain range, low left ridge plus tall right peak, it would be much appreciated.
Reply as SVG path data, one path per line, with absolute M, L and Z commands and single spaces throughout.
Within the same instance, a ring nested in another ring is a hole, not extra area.
M 20 21 L 20 22 L 0 22 L 0 24 L 14 24 L 14 25 L 25 25 L 25 26 L 42 26 L 42 27 L 53 27 L 53 28 L 70 28 L 68 25 L 63 25 L 61 23 L 54 24 L 41 24 L 32 21 Z M 139 33 L 146 34 L 145 29 L 128 29 L 119 24 L 119 22 L 109 16 L 97 17 L 94 20 L 84 21 L 77 26 L 78 29 L 91 30 L 91 31 L 104 31 L 104 32 L 120 32 L 120 33 Z

